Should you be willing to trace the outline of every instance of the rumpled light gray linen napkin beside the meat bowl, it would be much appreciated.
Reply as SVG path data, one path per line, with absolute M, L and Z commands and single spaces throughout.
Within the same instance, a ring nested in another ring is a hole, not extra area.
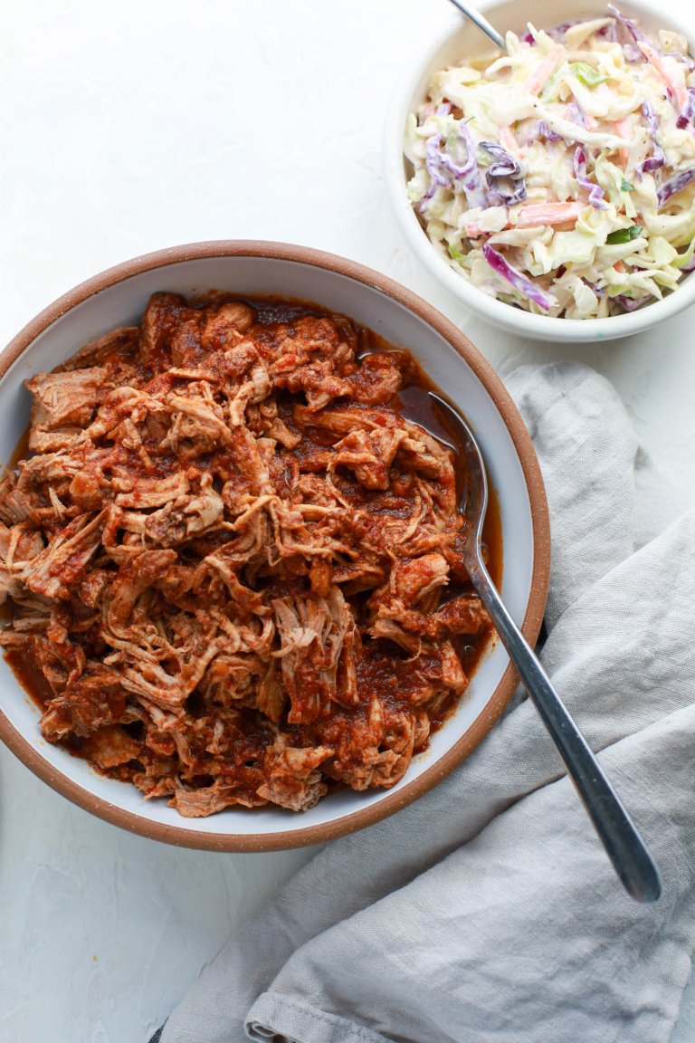
M 695 511 L 579 365 L 508 387 L 552 522 L 543 660 L 655 855 L 626 897 L 533 707 L 327 846 L 231 939 L 162 1043 L 665 1043 L 695 944 Z

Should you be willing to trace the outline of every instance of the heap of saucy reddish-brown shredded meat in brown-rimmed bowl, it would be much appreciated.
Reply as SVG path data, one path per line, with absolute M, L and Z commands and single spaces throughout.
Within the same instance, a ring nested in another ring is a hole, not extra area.
M 0 482 L 0 640 L 44 736 L 183 816 L 394 785 L 488 633 L 409 356 L 263 308 L 155 294 L 27 381 Z

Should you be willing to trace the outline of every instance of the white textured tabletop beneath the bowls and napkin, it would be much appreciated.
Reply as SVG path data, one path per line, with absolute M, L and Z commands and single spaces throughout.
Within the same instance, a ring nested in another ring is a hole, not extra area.
M 471 319 L 408 254 L 380 175 L 382 113 L 449 18 L 445 0 L 5 5 L 0 342 L 76 283 L 148 250 L 302 243 L 400 280 L 502 373 L 562 357 L 594 365 L 663 471 L 695 489 L 695 313 L 565 353 Z M 0 1043 L 144 1043 L 311 853 L 206 854 L 132 836 L 3 747 Z M 694 1039 L 691 986 L 674 1040 Z

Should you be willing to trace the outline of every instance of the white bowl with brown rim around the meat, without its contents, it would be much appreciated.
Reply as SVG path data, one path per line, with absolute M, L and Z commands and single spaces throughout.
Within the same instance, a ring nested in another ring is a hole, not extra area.
M 467 338 L 415 294 L 328 253 L 276 243 L 198 243 L 138 258 L 83 283 L 42 312 L 0 357 L 0 463 L 27 427 L 24 381 L 50 370 L 108 330 L 138 322 L 151 293 L 210 290 L 316 301 L 405 346 L 457 403 L 476 431 L 498 492 L 503 538 L 503 596 L 532 641 L 548 578 L 548 516 L 530 439 L 492 368 Z M 501 713 L 514 675 L 500 646 L 483 657 L 457 711 L 414 758 L 393 790 L 329 795 L 301 815 L 278 807 L 229 808 L 183 819 L 164 800 L 146 801 L 46 743 L 39 710 L 0 658 L 0 737 L 41 778 L 88 810 L 169 843 L 218 850 L 313 844 L 369 825 L 424 793 L 465 757 Z

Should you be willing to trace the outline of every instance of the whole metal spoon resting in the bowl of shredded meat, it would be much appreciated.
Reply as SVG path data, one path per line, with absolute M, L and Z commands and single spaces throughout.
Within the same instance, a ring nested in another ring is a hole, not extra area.
M 488 508 L 488 480 L 478 444 L 457 410 L 432 391 L 429 396 L 435 411 L 456 433 L 466 456 L 466 487 L 460 510 L 468 522 L 464 558 L 473 586 L 565 761 L 625 890 L 638 902 L 655 902 L 662 893 L 659 869 L 536 653 L 504 607 L 482 561 L 480 540 Z

